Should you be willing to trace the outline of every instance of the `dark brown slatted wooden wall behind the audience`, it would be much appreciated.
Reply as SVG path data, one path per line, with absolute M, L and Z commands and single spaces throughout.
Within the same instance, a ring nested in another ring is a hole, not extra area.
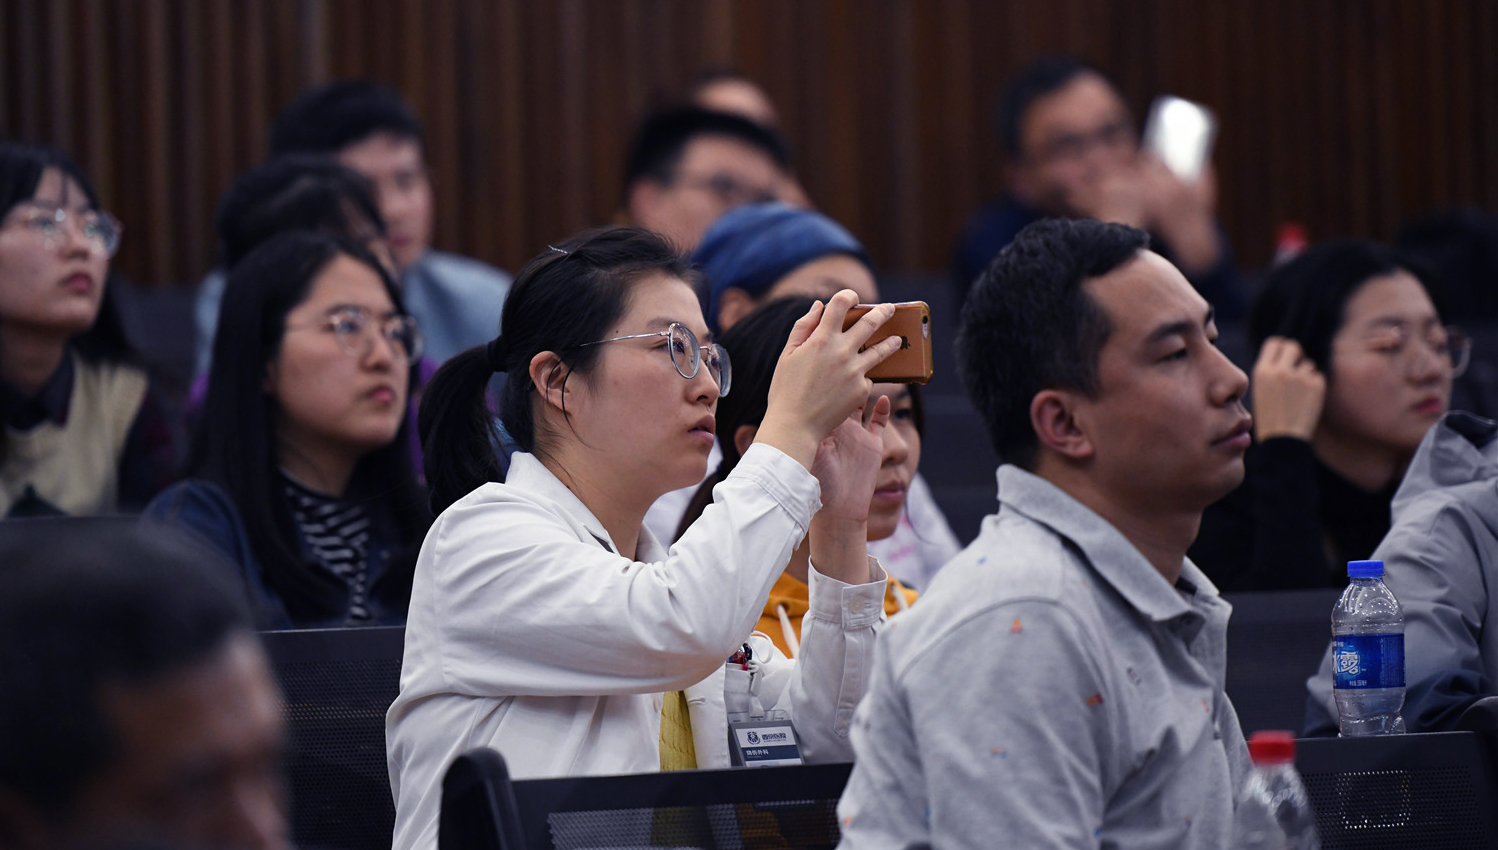
M 6 0 L 0 136 L 58 144 L 159 285 L 213 259 L 213 208 L 277 108 L 385 81 L 427 126 L 437 241 L 515 268 L 607 222 L 638 115 L 707 67 L 776 99 L 812 198 L 896 271 L 944 268 L 1002 189 L 993 97 L 1047 52 L 1131 105 L 1212 105 L 1224 225 L 1389 238 L 1498 208 L 1498 3 L 1488 0 Z

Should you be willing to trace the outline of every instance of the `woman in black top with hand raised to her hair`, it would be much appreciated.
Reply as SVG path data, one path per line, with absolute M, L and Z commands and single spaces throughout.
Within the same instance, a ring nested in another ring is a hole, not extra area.
M 1347 583 L 1372 555 L 1470 345 L 1392 250 L 1312 246 L 1249 313 L 1254 445 L 1243 484 L 1207 508 L 1191 559 L 1224 591 Z

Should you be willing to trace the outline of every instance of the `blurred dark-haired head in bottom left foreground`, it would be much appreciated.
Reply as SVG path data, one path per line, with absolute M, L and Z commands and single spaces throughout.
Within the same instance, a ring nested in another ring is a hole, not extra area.
M 0 847 L 288 846 L 280 697 L 229 576 L 129 520 L 0 526 Z

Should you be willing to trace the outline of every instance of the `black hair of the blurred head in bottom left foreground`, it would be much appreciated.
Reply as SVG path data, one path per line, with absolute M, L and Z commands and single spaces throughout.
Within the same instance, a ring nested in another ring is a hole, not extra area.
M 0 523 L 0 787 L 66 819 L 117 756 L 106 688 L 253 639 L 232 574 L 187 535 L 133 519 Z

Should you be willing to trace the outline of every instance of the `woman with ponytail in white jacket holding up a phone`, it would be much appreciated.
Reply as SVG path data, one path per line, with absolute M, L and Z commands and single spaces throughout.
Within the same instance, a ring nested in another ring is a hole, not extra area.
M 758 700 L 788 711 L 804 759 L 848 757 L 885 583 L 864 517 L 888 402 L 860 409 L 864 372 L 897 340 L 860 348 L 893 307 L 843 331 L 855 297 L 839 292 L 801 316 L 755 445 L 667 550 L 646 510 L 703 478 L 733 375 L 695 282 L 658 234 L 581 234 L 532 259 L 502 336 L 427 387 L 439 516 L 386 726 L 395 847 L 436 843 L 443 771 L 472 747 L 499 750 L 515 777 L 718 766 L 725 715 Z M 500 417 L 520 445 L 505 475 L 484 403 L 500 370 Z M 745 652 L 803 537 L 821 618 L 800 663 Z M 718 682 L 704 688 L 722 706 L 715 721 L 683 706 L 680 690 L 704 679 Z

